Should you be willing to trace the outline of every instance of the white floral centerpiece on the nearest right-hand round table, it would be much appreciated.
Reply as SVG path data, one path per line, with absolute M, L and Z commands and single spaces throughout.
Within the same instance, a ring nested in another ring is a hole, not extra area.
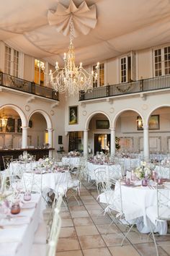
M 152 167 L 148 163 L 141 161 L 140 166 L 135 168 L 135 176 L 138 179 L 151 178 Z

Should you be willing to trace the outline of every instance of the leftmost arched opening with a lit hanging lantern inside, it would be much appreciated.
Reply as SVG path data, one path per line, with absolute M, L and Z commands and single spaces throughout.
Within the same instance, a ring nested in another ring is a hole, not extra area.
M 0 109 L 0 148 L 22 148 L 22 125 L 26 119 L 16 106 L 3 106 Z

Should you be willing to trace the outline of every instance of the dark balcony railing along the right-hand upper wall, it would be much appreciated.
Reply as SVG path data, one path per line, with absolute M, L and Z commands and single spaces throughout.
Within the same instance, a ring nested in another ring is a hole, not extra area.
M 133 93 L 144 93 L 147 91 L 164 90 L 167 88 L 170 88 L 170 75 L 94 88 L 86 93 L 80 92 L 79 101 L 88 101 L 97 98 L 114 97 Z

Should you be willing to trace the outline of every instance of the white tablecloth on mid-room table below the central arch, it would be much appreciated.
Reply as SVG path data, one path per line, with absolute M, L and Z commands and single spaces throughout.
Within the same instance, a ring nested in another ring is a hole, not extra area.
M 105 165 L 105 164 L 95 164 L 95 163 L 87 163 L 88 174 L 90 179 L 95 180 L 94 170 L 97 168 L 102 168 L 108 172 L 110 179 L 120 179 L 122 177 L 122 171 L 120 164 L 112 164 L 112 165 Z

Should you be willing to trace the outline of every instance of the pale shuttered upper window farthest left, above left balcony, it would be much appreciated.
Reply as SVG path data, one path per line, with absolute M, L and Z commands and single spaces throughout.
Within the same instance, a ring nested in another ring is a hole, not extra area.
M 5 69 L 6 74 L 19 76 L 19 51 L 5 46 Z

